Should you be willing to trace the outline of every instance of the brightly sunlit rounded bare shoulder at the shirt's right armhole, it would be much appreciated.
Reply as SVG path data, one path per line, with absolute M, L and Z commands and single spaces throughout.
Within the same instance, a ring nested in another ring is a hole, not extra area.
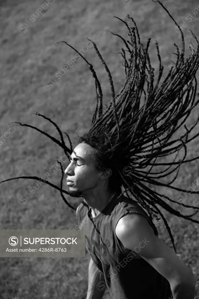
M 124 247 L 131 250 L 144 239 L 152 242 L 157 238 L 147 219 L 138 213 L 123 216 L 115 227 L 115 234 Z

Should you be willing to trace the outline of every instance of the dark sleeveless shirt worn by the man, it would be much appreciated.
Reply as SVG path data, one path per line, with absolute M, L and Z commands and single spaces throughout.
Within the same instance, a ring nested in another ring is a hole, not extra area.
M 88 210 L 85 203 L 86 201 L 83 200 L 78 206 L 78 224 L 80 224 L 80 229 L 83 226 L 86 249 L 104 276 L 112 298 L 172 298 L 169 281 L 143 258 L 135 259 L 134 252 L 125 248 L 115 233 L 115 227 L 121 217 L 129 213 L 136 213 L 147 219 L 156 234 L 144 209 L 134 200 L 128 199 L 124 195 L 118 197 L 118 194 L 115 194 L 101 213 L 92 218 L 91 207 L 89 206 Z M 88 213 L 90 217 L 88 217 Z M 158 237 L 157 234 L 156 236 Z M 147 244 L 146 238 L 143 240 L 144 243 Z M 138 250 L 139 247 L 138 249 L 134 248 L 135 252 L 139 252 Z

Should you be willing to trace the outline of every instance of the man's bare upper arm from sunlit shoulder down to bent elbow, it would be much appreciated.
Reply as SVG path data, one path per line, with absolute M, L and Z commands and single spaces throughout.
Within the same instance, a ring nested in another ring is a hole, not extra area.
M 191 269 L 161 239 L 155 236 L 148 221 L 139 214 L 126 215 L 116 227 L 116 235 L 130 250 L 138 254 L 169 282 L 193 280 Z M 138 249 L 135 250 L 137 253 Z

